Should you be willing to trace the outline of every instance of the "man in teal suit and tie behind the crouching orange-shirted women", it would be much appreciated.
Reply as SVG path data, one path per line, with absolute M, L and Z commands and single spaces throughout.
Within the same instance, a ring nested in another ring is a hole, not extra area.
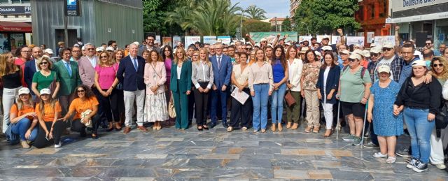
M 83 84 L 83 81 L 81 81 L 79 76 L 78 62 L 70 61 L 71 50 L 64 48 L 61 54 L 62 59 L 55 63 L 53 70 L 56 71 L 59 77 L 59 84 L 61 86 L 57 94 L 62 107 L 62 115 L 65 115 L 71 101 L 73 101 L 73 93 L 76 91 L 76 87 Z

